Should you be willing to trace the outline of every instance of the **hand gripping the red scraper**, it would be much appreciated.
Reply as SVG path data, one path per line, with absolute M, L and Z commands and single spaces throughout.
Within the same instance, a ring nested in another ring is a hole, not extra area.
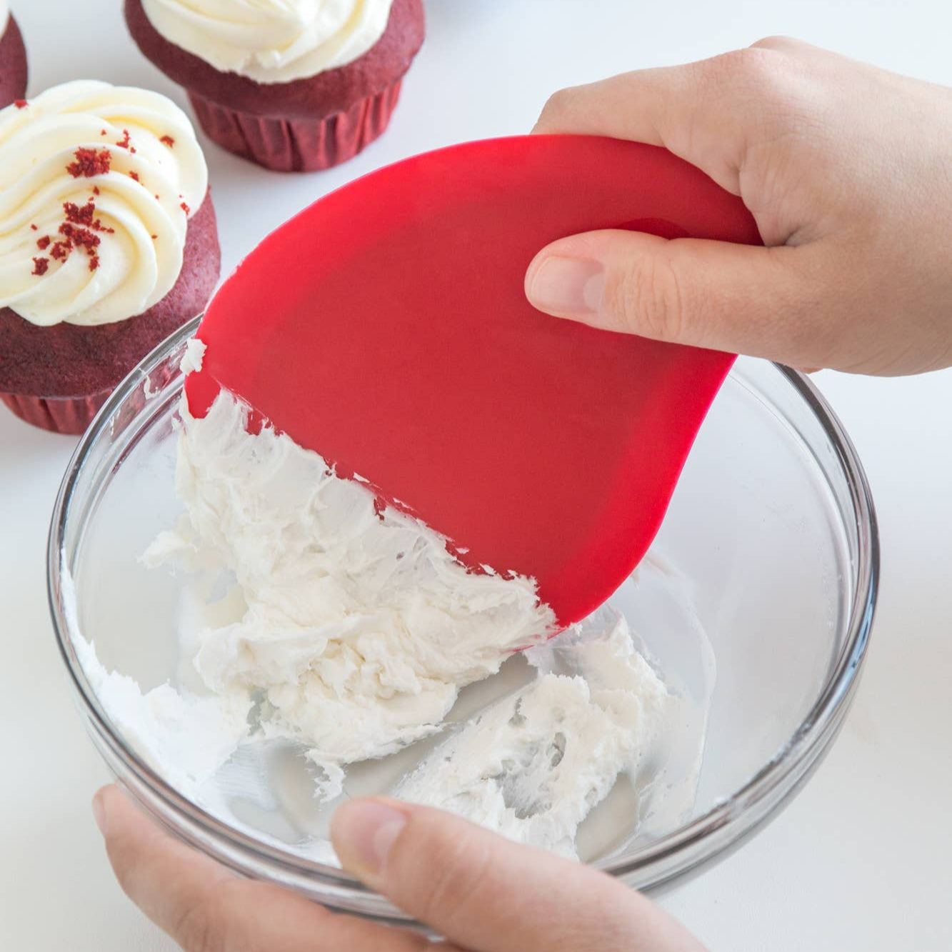
M 952 365 L 952 89 L 771 38 L 565 89 L 533 131 L 664 146 L 740 195 L 767 246 L 565 238 L 528 268 L 535 307 L 794 367 Z

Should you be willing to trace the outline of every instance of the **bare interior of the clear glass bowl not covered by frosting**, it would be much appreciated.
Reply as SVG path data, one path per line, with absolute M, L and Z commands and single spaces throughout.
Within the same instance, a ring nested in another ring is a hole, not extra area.
M 200 624 L 194 592 L 181 574 L 140 559 L 182 512 L 172 417 L 183 340 L 147 362 L 107 407 L 71 477 L 59 527 L 71 579 L 60 593 L 67 659 L 86 703 L 132 761 L 135 737 L 98 705 L 69 639 L 82 632 L 107 669 L 144 690 L 195 685 L 176 634 L 188 639 Z M 779 367 L 738 362 L 685 467 L 656 561 L 611 600 L 669 683 L 693 702 L 681 749 L 650 796 L 620 784 L 593 812 L 580 831 L 584 859 L 608 868 L 636 861 L 651 843 L 729 801 L 783 751 L 827 690 L 849 648 L 863 546 L 856 486 L 840 452 L 808 387 Z M 525 662 L 513 659 L 491 683 L 467 689 L 452 717 L 466 719 L 526 677 Z M 429 745 L 357 766 L 347 794 L 386 789 Z M 283 742 L 240 752 L 200 805 L 290 862 L 333 863 L 331 810 L 315 803 L 298 755 Z

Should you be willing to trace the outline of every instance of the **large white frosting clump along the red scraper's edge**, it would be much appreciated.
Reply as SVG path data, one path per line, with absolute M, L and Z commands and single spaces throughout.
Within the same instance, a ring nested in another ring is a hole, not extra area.
M 460 687 L 544 641 L 555 617 L 524 577 L 473 574 L 446 539 L 337 477 L 222 392 L 183 401 L 176 489 L 188 514 L 149 551 L 221 561 L 247 606 L 195 665 L 215 693 L 264 692 L 267 733 L 318 764 L 380 757 L 434 732 Z M 504 566 L 505 567 L 505 566 Z

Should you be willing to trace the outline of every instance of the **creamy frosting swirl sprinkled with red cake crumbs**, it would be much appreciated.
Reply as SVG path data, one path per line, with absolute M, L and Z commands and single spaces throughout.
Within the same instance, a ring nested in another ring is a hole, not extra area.
M 0 307 L 40 326 L 141 314 L 178 279 L 207 189 L 157 92 L 78 81 L 0 110 Z

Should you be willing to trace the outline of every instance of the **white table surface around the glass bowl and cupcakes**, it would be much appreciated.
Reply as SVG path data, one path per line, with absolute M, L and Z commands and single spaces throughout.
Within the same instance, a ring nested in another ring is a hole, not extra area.
M 945 0 L 426 6 L 426 47 L 391 128 L 344 168 L 273 174 L 208 145 L 226 273 L 351 177 L 424 149 L 525 131 L 549 92 L 613 72 L 787 33 L 952 84 Z M 31 93 L 97 77 L 184 104 L 133 47 L 119 0 L 12 7 Z M 940 952 L 952 948 L 952 371 L 817 380 L 859 449 L 881 520 L 883 585 L 862 688 L 794 803 L 663 902 L 712 950 Z M 0 949 L 159 952 L 172 943 L 113 882 L 89 813 L 106 770 L 73 710 L 47 613 L 47 523 L 74 442 L 0 409 Z

